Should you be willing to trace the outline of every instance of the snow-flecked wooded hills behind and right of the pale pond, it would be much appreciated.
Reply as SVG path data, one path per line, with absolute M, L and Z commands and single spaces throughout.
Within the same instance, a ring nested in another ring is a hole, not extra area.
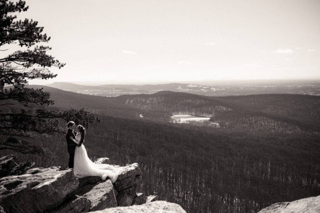
M 171 115 L 211 117 L 221 128 L 245 132 L 319 134 L 320 97 L 265 94 L 208 97 L 188 93 L 159 92 L 122 95 L 119 104 L 132 106 L 152 120 L 169 121 Z

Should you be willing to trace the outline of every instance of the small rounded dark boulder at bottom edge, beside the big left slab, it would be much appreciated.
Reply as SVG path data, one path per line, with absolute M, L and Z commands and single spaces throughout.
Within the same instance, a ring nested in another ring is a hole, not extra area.
M 58 207 L 54 213 L 80 213 L 88 212 L 91 206 L 91 201 L 84 196 L 74 195 L 70 197 L 66 202 Z

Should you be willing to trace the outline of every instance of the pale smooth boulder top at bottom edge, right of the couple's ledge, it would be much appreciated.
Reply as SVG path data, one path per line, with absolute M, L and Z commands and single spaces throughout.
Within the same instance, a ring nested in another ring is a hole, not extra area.
M 128 213 L 128 212 L 144 212 L 144 213 L 165 213 L 165 212 L 176 212 L 176 213 L 186 213 L 182 207 L 176 203 L 170 203 L 166 201 L 155 201 L 150 203 L 145 203 L 142 205 L 133 205 L 126 207 L 115 207 L 104 209 L 100 211 L 94 211 L 94 213 Z

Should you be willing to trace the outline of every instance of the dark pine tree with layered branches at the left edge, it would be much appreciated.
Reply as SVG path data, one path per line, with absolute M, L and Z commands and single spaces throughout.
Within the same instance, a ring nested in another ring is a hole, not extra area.
M 21 49 L 0 58 L 0 149 L 43 155 L 48 150 L 32 143 L 39 135 L 65 133 L 62 121 L 88 126 L 100 119 L 84 109 L 53 110 L 48 92 L 26 87 L 28 80 L 56 77 L 48 68 L 65 65 L 47 54 L 50 47 L 36 45 L 50 40 L 37 21 L 12 15 L 27 10 L 25 1 L 0 0 L 0 51 L 14 45 Z

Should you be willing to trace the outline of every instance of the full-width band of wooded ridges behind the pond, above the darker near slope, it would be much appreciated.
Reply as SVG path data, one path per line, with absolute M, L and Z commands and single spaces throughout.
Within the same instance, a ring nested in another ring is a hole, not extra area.
M 30 85 L 41 88 L 42 86 Z M 265 94 L 211 97 L 161 91 L 154 94 L 102 97 L 44 87 L 54 107 L 85 108 L 120 118 L 171 122 L 172 115 L 208 117 L 222 129 L 249 132 L 317 133 L 320 129 L 320 97 Z

